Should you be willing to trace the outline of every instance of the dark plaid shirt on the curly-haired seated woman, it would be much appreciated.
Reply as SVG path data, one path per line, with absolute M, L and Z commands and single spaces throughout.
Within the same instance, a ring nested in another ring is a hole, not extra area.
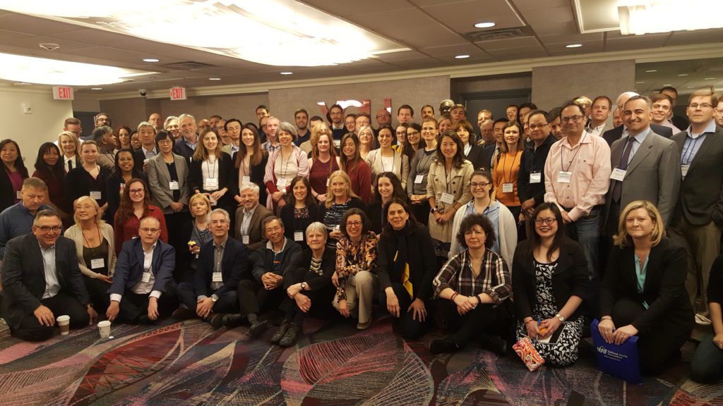
M 512 295 L 511 281 L 507 264 L 494 251 L 487 249 L 484 250 L 479 276 L 474 276 L 469 254 L 465 250 L 450 259 L 432 283 L 435 285 L 435 297 L 446 288 L 465 296 L 487 293 L 497 306 Z

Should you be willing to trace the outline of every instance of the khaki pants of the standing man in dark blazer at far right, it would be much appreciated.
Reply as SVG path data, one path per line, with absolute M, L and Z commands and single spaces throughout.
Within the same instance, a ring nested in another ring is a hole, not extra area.
M 668 228 L 668 236 L 674 238 L 688 251 L 688 290 L 690 303 L 698 314 L 708 315 L 708 275 L 720 253 L 721 229 L 712 221 L 706 225 L 692 225 L 682 217 Z

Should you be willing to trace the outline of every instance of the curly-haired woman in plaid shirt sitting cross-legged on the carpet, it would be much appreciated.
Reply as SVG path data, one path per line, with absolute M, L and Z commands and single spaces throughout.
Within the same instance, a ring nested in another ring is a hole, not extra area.
M 505 261 L 491 250 L 492 223 L 484 215 L 469 215 L 455 238 L 466 249 L 450 259 L 432 282 L 435 295 L 442 299 L 442 319 L 455 332 L 433 340 L 432 353 L 453 353 L 475 337 L 508 331 L 512 281 Z

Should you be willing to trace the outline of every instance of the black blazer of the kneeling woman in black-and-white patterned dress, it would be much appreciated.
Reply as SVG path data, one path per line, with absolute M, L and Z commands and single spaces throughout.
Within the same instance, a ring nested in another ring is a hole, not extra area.
M 537 304 L 537 279 L 535 277 L 532 240 L 522 241 L 515 249 L 512 260 L 512 289 L 515 294 L 515 313 L 518 319 L 532 316 L 532 309 Z M 585 297 L 588 290 L 589 271 L 587 259 L 576 241 L 565 238 L 560 243 L 560 256 L 557 268 L 552 274 L 552 297 L 558 310 L 568 303 L 570 296 Z M 573 313 L 568 320 L 576 320 L 582 313 L 582 307 Z

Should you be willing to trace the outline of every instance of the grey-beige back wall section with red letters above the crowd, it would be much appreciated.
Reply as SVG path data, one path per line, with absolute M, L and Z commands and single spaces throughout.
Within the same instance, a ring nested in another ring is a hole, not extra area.
M 422 105 L 440 105 L 440 101 L 450 94 L 448 76 L 426 77 L 423 79 L 400 79 L 383 82 L 349 83 L 348 85 L 330 85 L 296 87 L 291 89 L 269 90 L 271 112 L 281 121 L 294 123 L 294 111 L 306 108 L 309 116 L 322 116 L 317 103 L 325 102 L 328 107 L 337 100 L 370 100 L 372 104 L 372 125 L 377 124 L 376 113 L 384 108 L 384 99 L 392 99 L 392 116 L 396 122 L 396 111 L 400 105 L 408 104 L 414 108 L 414 118 L 419 121 Z M 356 113 L 356 108 L 348 112 Z

